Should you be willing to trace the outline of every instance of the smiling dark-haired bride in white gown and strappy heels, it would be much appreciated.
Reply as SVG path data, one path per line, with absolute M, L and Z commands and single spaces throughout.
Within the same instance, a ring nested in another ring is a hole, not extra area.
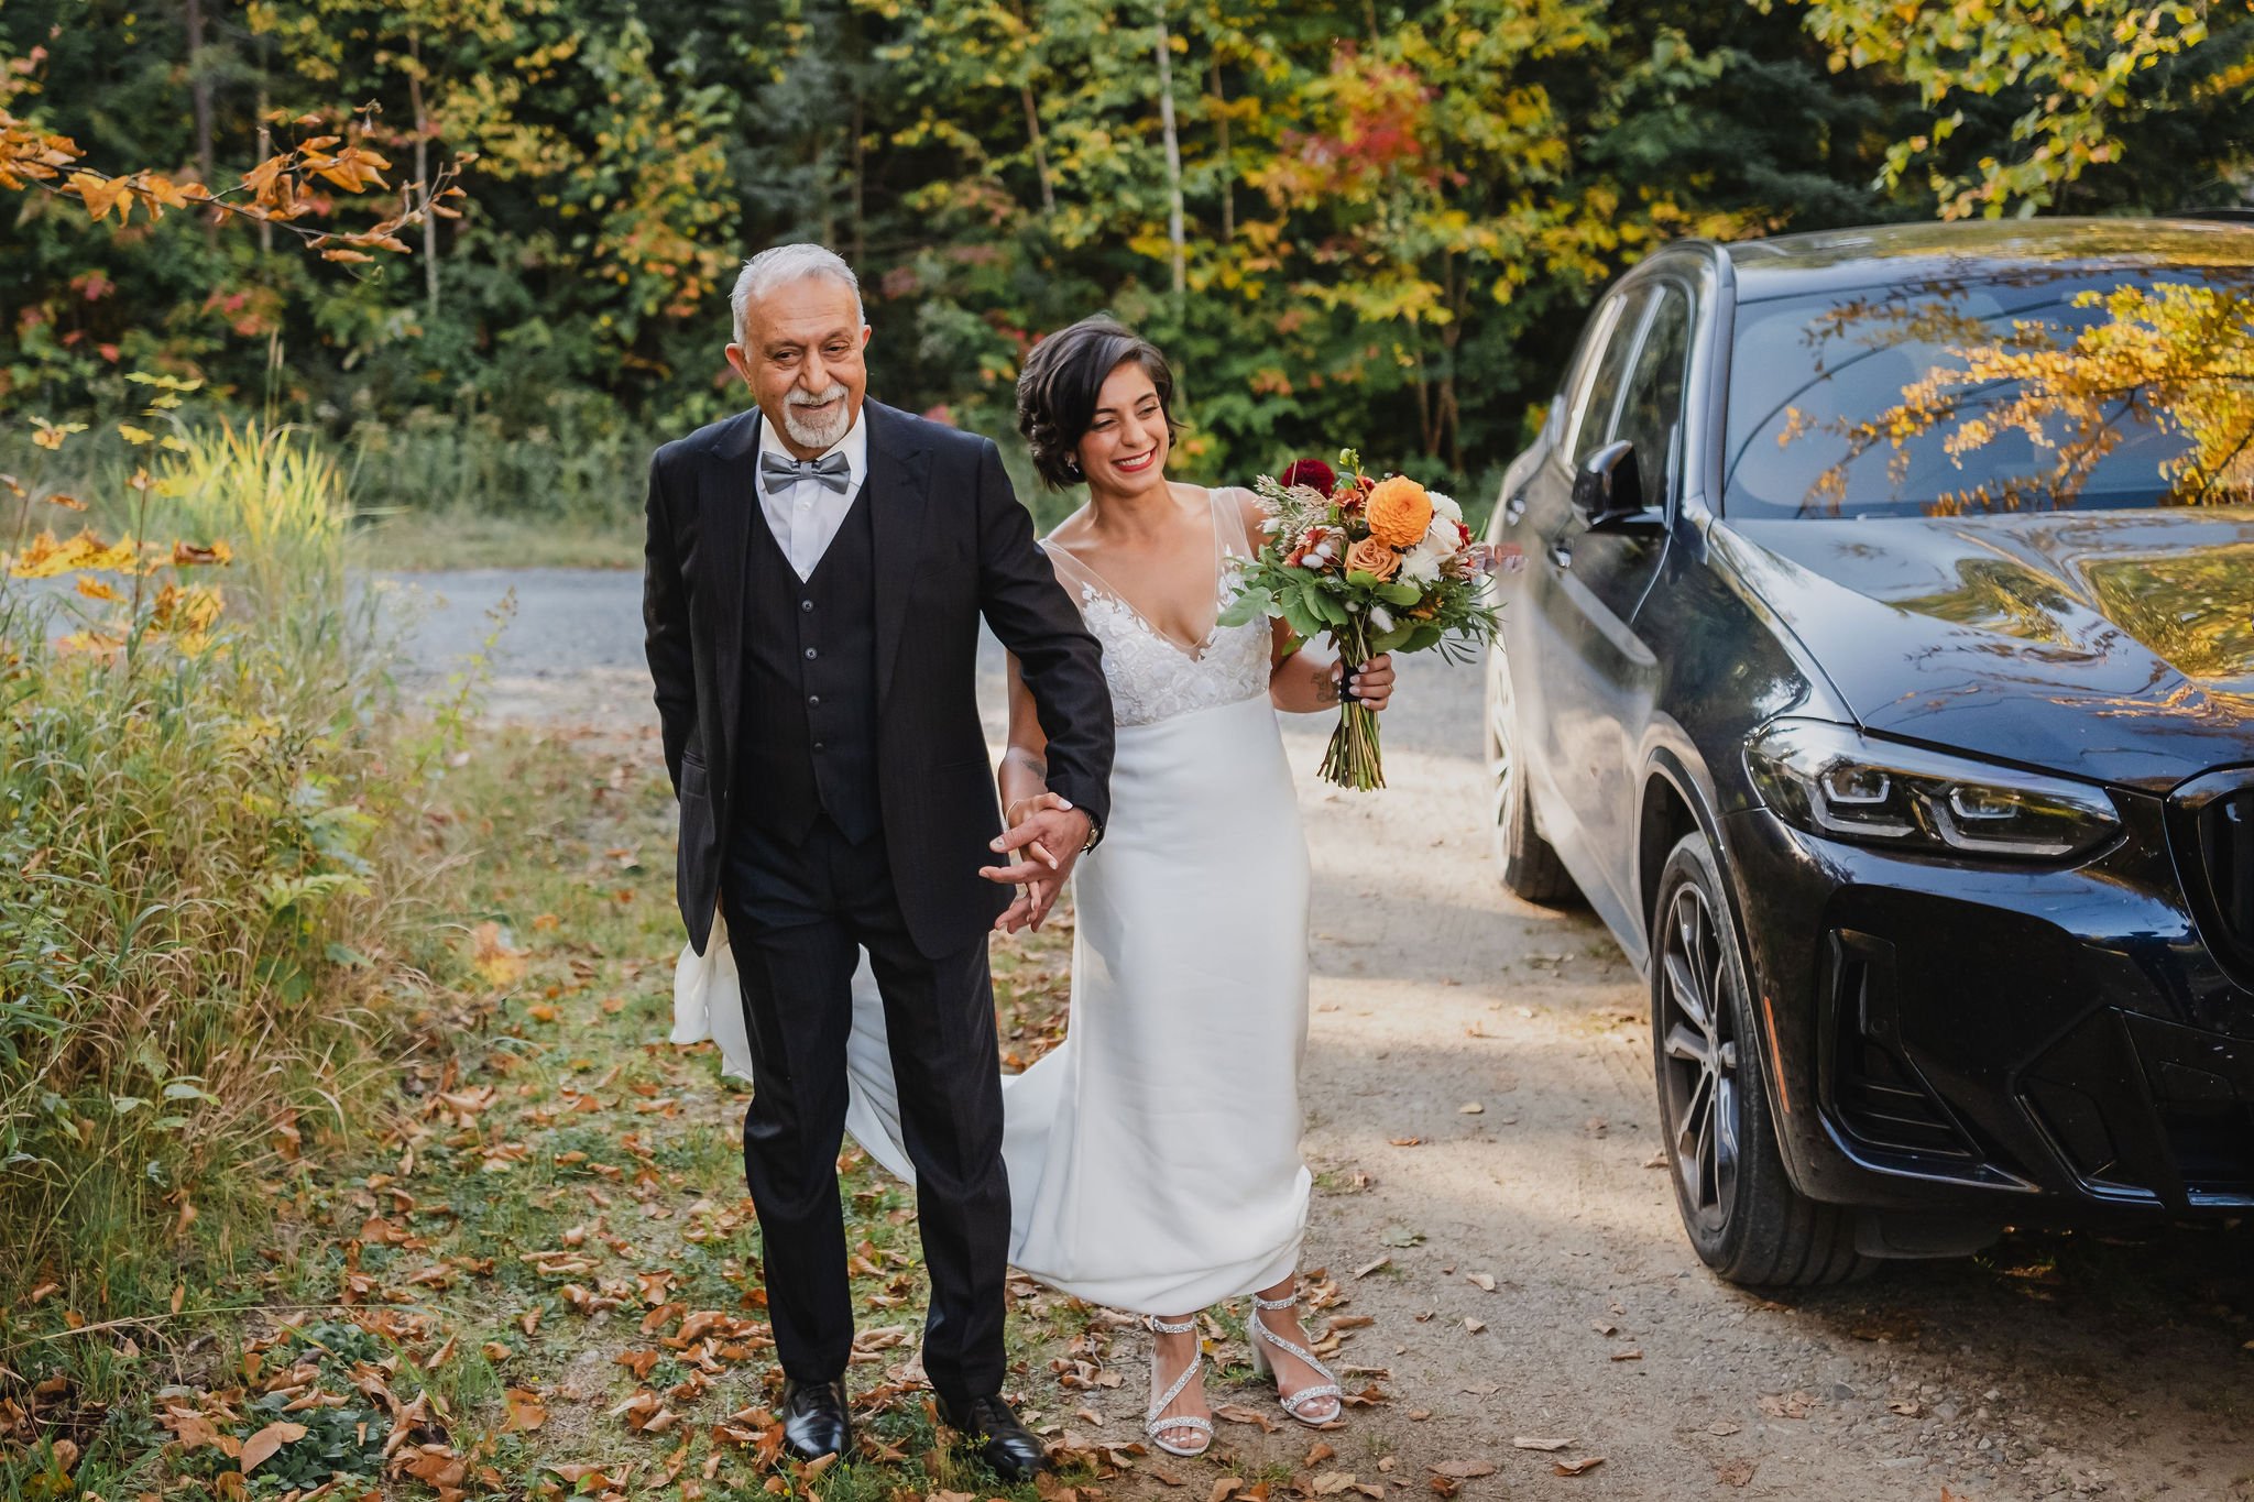
M 1287 1414 L 1321 1425 L 1341 1412 L 1296 1315 L 1312 1184 L 1298 1153 L 1307 842 L 1276 709 L 1334 709 L 1341 691 L 1382 709 L 1393 667 L 1377 658 L 1348 680 L 1321 651 L 1287 653 L 1269 622 L 1217 622 L 1264 516 L 1251 491 L 1165 477 L 1170 401 L 1163 356 L 1104 318 L 1044 340 L 1019 378 L 1044 480 L 1089 486 L 1044 547 L 1102 642 L 1118 750 L 1111 824 L 1073 871 L 1066 1038 L 1003 1081 L 1003 1160 L 1010 1261 L 1147 1317 L 1147 1432 L 1201 1455 L 1213 1419 L 1195 1317 L 1222 1299 L 1253 1297 L 1253 1365 Z M 1059 896 L 1030 838 L 1062 804 L 1044 745 L 1012 662 L 999 775 L 1010 833 L 994 849 L 1026 885 L 999 928 L 1039 926 Z M 701 966 L 683 955 L 676 1040 L 703 1036 L 706 1020 L 724 1052 L 742 1034 L 726 968 L 721 944 Z M 703 993 L 717 1000 L 708 1018 Z M 913 1180 L 884 1011 L 859 982 L 850 1074 L 848 1128 Z

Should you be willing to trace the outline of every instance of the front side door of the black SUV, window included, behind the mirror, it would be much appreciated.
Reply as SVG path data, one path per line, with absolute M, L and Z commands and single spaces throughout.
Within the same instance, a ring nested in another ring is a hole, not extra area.
M 1558 795 L 1587 849 L 1591 903 L 1627 930 L 1636 917 L 1636 770 L 1650 721 L 1659 658 L 1636 631 L 1636 610 L 1666 556 L 1668 507 L 1681 491 L 1684 376 L 1690 356 L 1693 290 L 1654 277 L 1614 329 L 1558 480 L 1567 504 L 1542 536 L 1546 635 L 1558 655 L 1544 671 L 1546 757 Z M 1636 455 L 1643 511 L 1598 520 L 1571 498 L 1578 473 L 1603 448 L 1627 441 Z M 1576 871 L 1580 878 L 1582 871 Z

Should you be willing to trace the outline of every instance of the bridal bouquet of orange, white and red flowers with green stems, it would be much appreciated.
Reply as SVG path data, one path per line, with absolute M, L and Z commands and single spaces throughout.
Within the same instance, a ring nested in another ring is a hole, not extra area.
M 1339 453 L 1339 468 L 1296 459 L 1280 480 L 1260 475 L 1253 491 L 1269 536 L 1242 570 L 1224 626 L 1267 615 L 1301 640 L 1328 633 L 1348 669 L 1377 653 L 1454 653 L 1494 640 L 1494 606 L 1481 592 L 1490 554 L 1440 491 L 1406 475 L 1373 480 L 1352 448 Z M 1341 705 L 1323 779 L 1386 786 L 1377 712 Z

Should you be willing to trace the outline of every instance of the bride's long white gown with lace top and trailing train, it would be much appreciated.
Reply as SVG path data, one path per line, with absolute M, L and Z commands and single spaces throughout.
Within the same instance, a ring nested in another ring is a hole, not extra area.
M 1215 601 L 1251 547 L 1242 491 L 1213 493 Z M 1003 1081 L 1010 1261 L 1095 1304 L 1183 1315 L 1298 1266 L 1307 1166 L 1307 842 L 1269 705 L 1269 626 L 1161 635 L 1050 547 L 1104 649 L 1118 723 L 1111 820 L 1073 871 L 1066 1040 Z M 708 1002 L 710 998 L 710 1002 Z M 676 1043 L 710 1027 L 748 1074 L 726 935 L 683 950 Z M 848 1130 L 913 1182 L 884 1009 L 854 980 Z

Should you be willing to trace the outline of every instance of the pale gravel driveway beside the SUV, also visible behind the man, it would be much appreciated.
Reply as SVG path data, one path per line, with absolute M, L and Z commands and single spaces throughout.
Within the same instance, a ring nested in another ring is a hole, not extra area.
M 489 712 L 645 723 L 636 579 L 433 583 L 421 689 L 514 585 Z M 1476 671 L 1411 667 L 1384 795 L 1314 779 L 1325 725 L 1287 734 L 1316 867 L 1310 1261 L 1370 1320 L 1341 1360 L 1391 1396 L 1321 1437 L 1321 1484 L 1422 1491 L 1445 1466 L 1465 1497 L 2254 1497 L 2243 1234 L 2020 1234 L 1787 1299 L 1690 1257 L 1650 1166 L 1643 982 L 1589 914 L 1494 883 L 1476 696 Z M 1244 1475 L 1314 1439 L 1222 1428 Z M 1177 1495 L 1208 1484 L 1177 1470 Z

